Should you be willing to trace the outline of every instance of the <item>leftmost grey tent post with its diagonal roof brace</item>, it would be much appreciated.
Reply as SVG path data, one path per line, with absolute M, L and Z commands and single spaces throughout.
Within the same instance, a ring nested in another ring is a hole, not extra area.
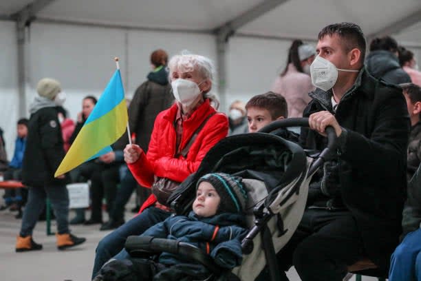
M 36 14 L 54 0 L 35 0 L 10 17 L 16 21 L 17 34 L 17 66 L 18 66 L 18 89 L 19 89 L 19 116 L 26 116 L 26 82 L 28 77 L 28 63 L 26 54 L 26 28 L 35 19 Z

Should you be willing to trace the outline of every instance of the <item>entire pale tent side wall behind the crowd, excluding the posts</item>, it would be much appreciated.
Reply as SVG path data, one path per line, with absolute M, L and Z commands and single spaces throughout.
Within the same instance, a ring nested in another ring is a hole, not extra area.
M 28 30 L 27 43 L 26 104 L 29 107 L 32 103 L 36 82 L 52 76 L 62 83 L 67 94 L 65 107 L 73 119 L 84 96 L 98 97 L 104 90 L 115 70 L 114 56 L 120 57 L 122 79 L 129 97 L 146 79 L 151 70 L 149 54 L 157 48 L 163 48 L 170 56 L 188 50 L 210 57 L 215 64 L 217 59 L 215 37 L 211 34 L 34 22 Z M 0 46 L 5 65 L 0 72 L 0 127 L 6 133 L 11 158 L 15 125 L 21 117 L 17 116 L 17 43 L 13 22 L 0 21 Z M 226 53 L 226 94 L 221 97 L 220 110 L 226 112 L 236 99 L 246 102 L 255 94 L 270 90 L 275 77 L 285 67 L 289 46 L 289 40 L 231 37 Z M 421 58 L 420 48 L 410 49 L 417 59 Z

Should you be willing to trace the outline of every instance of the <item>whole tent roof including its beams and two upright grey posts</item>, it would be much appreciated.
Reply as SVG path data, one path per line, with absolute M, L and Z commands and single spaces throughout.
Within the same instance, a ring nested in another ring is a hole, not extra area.
M 219 94 L 226 87 L 230 36 L 316 41 L 323 26 L 351 21 L 367 39 L 393 34 L 421 48 L 421 0 L 1 0 L 0 20 L 17 22 L 19 112 L 25 112 L 26 27 L 64 23 L 215 34 Z M 167 33 L 168 34 L 168 33 Z

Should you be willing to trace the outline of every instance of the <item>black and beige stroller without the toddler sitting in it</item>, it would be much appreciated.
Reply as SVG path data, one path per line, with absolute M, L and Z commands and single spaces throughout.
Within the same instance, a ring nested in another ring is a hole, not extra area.
M 327 128 L 328 145 L 316 156 L 308 156 L 298 144 L 270 134 L 283 127 L 308 127 L 307 118 L 275 121 L 255 134 L 225 138 L 210 149 L 195 174 L 189 176 L 169 198 L 177 214 L 187 214 L 195 198 L 197 180 L 210 172 L 241 176 L 248 191 L 246 204 L 250 231 L 241 243 L 243 262 L 226 272 L 200 249 L 185 242 L 145 236 L 130 236 L 125 249 L 131 257 L 162 251 L 182 255 L 203 264 L 211 272 L 206 280 L 255 280 L 268 265 L 270 280 L 279 280 L 275 253 L 290 240 L 298 227 L 308 185 L 335 148 L 336 134 Z

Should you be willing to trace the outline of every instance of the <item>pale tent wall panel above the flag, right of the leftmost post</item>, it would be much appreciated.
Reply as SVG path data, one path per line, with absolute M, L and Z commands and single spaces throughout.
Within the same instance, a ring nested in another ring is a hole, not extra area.
M 34 23 L 30 28 L 28 105 L 37 81 L 52 77 L 67 94 L 71 118 L 81 110 L 84 96 L 100 96 L 116 70 L 114 56 L 125 65 L 125 34 L 118 29 Z

